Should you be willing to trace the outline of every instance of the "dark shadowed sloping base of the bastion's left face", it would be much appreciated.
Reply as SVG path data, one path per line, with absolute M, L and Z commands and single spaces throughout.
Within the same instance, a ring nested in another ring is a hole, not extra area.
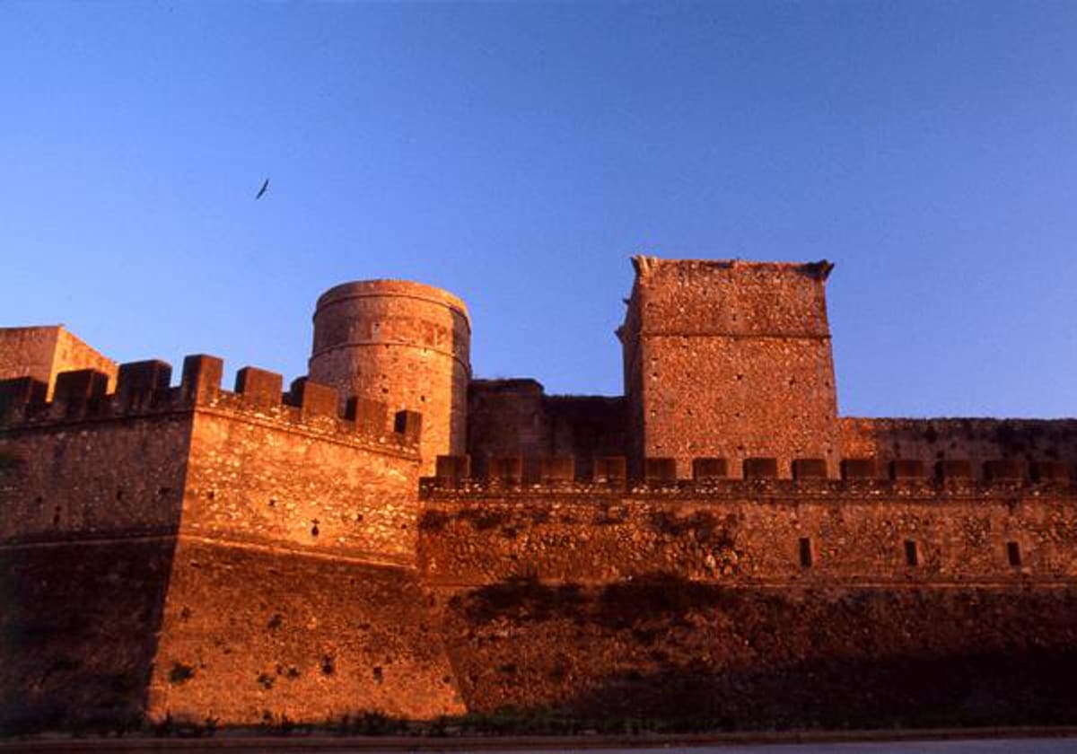
M 0 549 L 0 735 L 141 722 L 174 547 Z

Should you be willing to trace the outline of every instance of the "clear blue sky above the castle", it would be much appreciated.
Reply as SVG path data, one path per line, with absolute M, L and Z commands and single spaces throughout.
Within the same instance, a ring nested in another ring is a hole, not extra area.
M 845 415 L 1077 415 L 1077 2 L 0 3 L 0 325 L 290 380 L 408 278 L 616 394 L 640 252 L 836 262 Z

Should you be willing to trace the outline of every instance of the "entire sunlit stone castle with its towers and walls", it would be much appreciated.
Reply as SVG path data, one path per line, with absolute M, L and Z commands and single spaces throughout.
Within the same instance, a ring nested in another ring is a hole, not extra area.
M 286 390 L 0 330 L 0 726 L 1074 722 L 1077 422 L 839 416 L 829 263 L 633 264 L 619 397 L 405 281 Z

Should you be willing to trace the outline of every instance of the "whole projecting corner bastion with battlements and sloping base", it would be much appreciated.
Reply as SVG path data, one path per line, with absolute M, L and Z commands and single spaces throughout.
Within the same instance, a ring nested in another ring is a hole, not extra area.
M 415 576 L 422 417 L 222 371 L 0 382 L 0 722 L 461 711 Z

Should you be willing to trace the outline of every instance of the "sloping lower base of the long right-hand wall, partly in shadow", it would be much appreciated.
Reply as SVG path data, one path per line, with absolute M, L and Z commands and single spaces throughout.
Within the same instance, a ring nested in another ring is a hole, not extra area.
M 478 712 L 684 729 L 1077 721 L 1077 595 L 1063 588 L 520 580 L 458 595 L 446 628 L 461 693 Z

